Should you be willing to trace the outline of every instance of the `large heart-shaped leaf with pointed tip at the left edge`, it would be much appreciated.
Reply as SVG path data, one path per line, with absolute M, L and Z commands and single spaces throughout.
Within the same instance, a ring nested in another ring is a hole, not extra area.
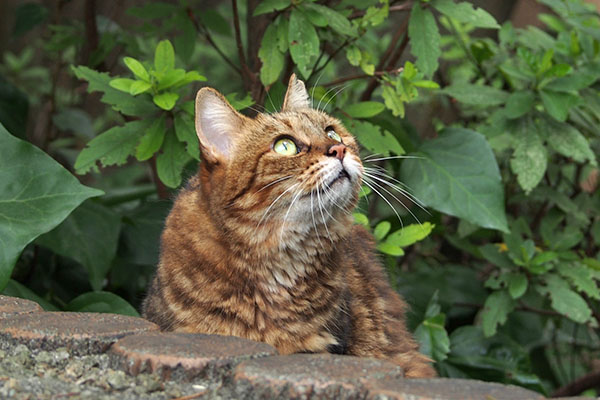
M 101 194 L 0 124 L 0 290 L 27 244 Z

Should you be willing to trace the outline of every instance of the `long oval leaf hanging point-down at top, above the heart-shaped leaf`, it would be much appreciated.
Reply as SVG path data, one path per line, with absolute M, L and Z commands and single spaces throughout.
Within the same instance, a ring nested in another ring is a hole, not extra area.
M 417 57 L 417 68 L 426 77 L 431 77 L 438 69 L 438 59 L 442 54 L 440 32 L 435 18 L 429 9 L 423 9 L 415 2 L 408 23 L 408 37 L 411 52 Z

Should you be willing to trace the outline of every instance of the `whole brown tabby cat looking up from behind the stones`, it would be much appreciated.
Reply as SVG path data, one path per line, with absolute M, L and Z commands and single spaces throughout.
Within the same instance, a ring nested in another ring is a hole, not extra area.
M 433 376 L 371 235 L 353 224 L 358 146 L 311 109 L 304 83 L 292 76 L 282 111 L 254 119 L 203 88 L 196 132 L 203 162 L 167 218 L 143 315 L 167 331 L 383 358 L 408 377 Z

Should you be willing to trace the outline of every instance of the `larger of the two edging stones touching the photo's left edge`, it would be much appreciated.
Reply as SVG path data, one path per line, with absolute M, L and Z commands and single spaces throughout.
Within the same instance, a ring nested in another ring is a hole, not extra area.
M 75 355 L 106 351 L 120 338 L 158 326 L 142 318 L 117 314 L 43 312 L 21 314 L 2 320 L 0 348 L 24 344 L 31 350 L 66 347 Z

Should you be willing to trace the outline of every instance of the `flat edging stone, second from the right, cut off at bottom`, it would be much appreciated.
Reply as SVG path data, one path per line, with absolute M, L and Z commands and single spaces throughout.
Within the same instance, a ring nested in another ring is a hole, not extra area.
M 402 376 L 400 367 L 384 360 L 293 354 L 245 361 L 233 383 L 245 399 L 362 399 L 366 382 Z

